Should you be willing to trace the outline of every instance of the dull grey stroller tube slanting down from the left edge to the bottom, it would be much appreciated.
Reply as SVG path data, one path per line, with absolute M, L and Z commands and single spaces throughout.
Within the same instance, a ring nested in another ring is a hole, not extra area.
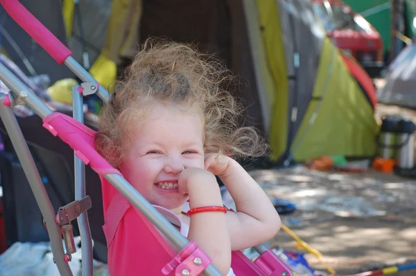
M 0 98 L 1 100 L 3 99 L 3 97 Z M 44 184 L 40 179 L 39 172 L 37 171 L 28 145 L 26 144 L 26 140 L 21 133 L 15 114 L 13 114 L 10 107 L 0 104 L 0 117 L 1 120 L 3 120 L 13 147 L 16 150 L 17 157 L 19 157 L 19 161 L 21 162 L 21 166 L 31 186 L 37 205 L 39 205 L 40 212 L 44 217 L 49 239 L 51 241 L 53 258 L 55 259 L 56 266 L 58 266 L 59 273 L 62 276 L 72 276 L 69 265 L 64 261 L 62 236 L 60 234 L 59 225 L 55 222 L 55 212 L 53 211 L 51 200 L 49 200 L 48 193 L 46 193 Z

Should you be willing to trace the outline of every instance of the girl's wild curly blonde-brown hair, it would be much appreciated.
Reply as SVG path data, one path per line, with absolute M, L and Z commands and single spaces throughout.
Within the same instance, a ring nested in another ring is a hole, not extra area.
M 198 107 L 205 125 L 205 153 L 234 158 L 266 153 L 267 146 L 254 128 L 239 127 L 243 108 L 227 92 L 233 80 L 229 71 L 209 58 L 189 45 L 146 40 L 101 109 L 98 153 L 118 167 L 136 130 L 133 126 L 146 118 L 152 103 Z

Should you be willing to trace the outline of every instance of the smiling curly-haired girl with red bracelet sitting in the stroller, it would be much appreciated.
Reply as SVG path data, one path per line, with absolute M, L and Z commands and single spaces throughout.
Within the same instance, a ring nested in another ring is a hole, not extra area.
M 191 47 L 148 40 L 103 106 L 96 148 L 162 214 L 180 218 L 180 232 L 198 243 L 220 273 L 234 275 L 232 250 L 271 239 L 280 219 L 266 193 L 229 157 L 258 156 L 266 146 L 252 128 L 238 127 L 241 108 L 223 89 L 227 80 L 218 62 Z M 223 206 L 215 175 L 236 212 L 200 212 Z M 184 214 L 187 200 L 190 211 Z M 111 246 L 125 255 L 137 249 L 129 250 L 128 240 Z M 112 260 L 110 275 L 121 275 Z

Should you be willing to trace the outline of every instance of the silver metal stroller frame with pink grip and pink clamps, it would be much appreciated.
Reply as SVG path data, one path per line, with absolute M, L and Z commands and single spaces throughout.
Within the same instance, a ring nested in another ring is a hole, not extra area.
M 8 12 L 8 15 L 14 19 L 21 28 L 23 28 L 28 35 L 31 35 L 33 39 L 42 46 L 42 48 L 51 55 L 59 64 L 67 66 L 78 78 L 84 83 L 75 85 L 72 88 L 73 99 L 73 119 L 79 123 L 84 123 L 83 114 L 83 96 L 96 93 L 101 100 L 107 103 L 110 99 L 110 94 L 104 87 L 101 87 L 99 83 L 71 56 L 71 51 L 67 49 L 57 37 L 55 37 L 45 26 L 40 23 L 26 8 L 24 8 L 19 0 L 0 0 L 0 4 Z M 0 80 L 11 90 L 9 94 L 0 94 L 0 117 L 4 123 L 6 131 L 10 136 L 12 145 L 15 148 L 17 157 L 21 162 L 21 166 L 24 169 L 24 173 L 31 186 L 33 195 L 37 205 L 40 207 L 40 212 L 44 218 L 44 223 L 49 234 L 51 241 L 51 249 L 56 266 L 58 267 L 60 275 L 70 276 L 73 275 L 69 268 L 68 261 L 71 261 L 71 254 L 76 250 L 76 246 L 73 243 L 73 232 L 71 221 L 77 219 L 80 229 L 80 237 L 82 242 L 82 275 L 93 275 L 93 255 L 92 255 L 92 234 L 89 228 L 89 221 L 87 217 L 87 210 L 92 207 L 92 202 L 89 196 L 85 193 L 85 164 L 90 164 L 94 171 L 100 174 L 108 182 L 110 182 L 125 198 L 127 198 L 139 212 L 144 214 L 148 220 L 157 227 L 157 229 L 171 241 L 175 247 L 175 251 L 180 257 L 184 252 L 187 252 L 187 256 L 193 256 L 193 259 L 175 258 L 176 264 L 171 267 L 174 270 L 175 267 L 179 268 L 178 264 L 184 261 L 188 261 L 187 265 L 192 269 L 182 269 L 178 271 L 176 269 L 175 275 L 199 275 L 203 272 L 205 275 L 220 275 L 218 270 L 212 266 L 209 257 L 205 255 L 195 243 L 190 243 L 179 231 L 176 230 L 171 223 L 169 223 L 162 214 L 160 214 L 155 207 L 141 194 L 132 187 L 132 185 L 125 180 L 118 173 L 99 173 L 97 169 L 102 169 L 100 166 L 94 163 L 94 157 L 98 156 L 98 153 L 91 153 L 88 149 L 79 145 L 78 141 L 70 139 L 68 133 L 62 133 L 59 129 L 54 128 L 44 121 L 44 128 L 49 130 L 52 135 L 60 137 L 65 143 L 69 144 L 74 151 L 74 185 L 75 185 L 75 201 L 70 202 L 64 207 L 60 207 L 58 213 L 55 213 L 53 206 L 49 199 L 48 194 L 40 174 L 36 169 L 35 162 L 31 155 L 26 140 L 21 132 L 19 124 L 15 114 L 12 111 L 12 107 L 15 105 L 27 105 L 42 119 L 53 115 L 51 108 L 49 108 L 40 98 L 35 96 L 31 89 L 24 85 L 24 83 L 17 78 L 12 72 L 3 64 L 0 63 Z M 104 164 L 105 166 L 106 164 Z M 107 164 L 110 166 L 109 164 Z M 64 245 L 62 244 L 62 236 L 64 239 Z M 65 249 L 64 250 L 64 246 Z M 281 261 L 270 253 L 265 245 L 257 245 L 254 247 L 259 255 L 259 262 L 257 266 L 262 268 L 260 275 L 279 275 L 289 276 L 290 270 L 286 268 L 281 269 L 283 266 Z M 191 250 L 191 253 L 189 254 Z M 263 254 L 264 253 L 264 254 Z M 183 257 L 183 256 L 182 256 Z M 200 258 L 198 261 L 204 260 L 204 264 L 198 264 L 195 258 Z M 207 261 L 205 261 L 207 260 Z M 195 268 L 199 266 L 199 268 Z M 204 269 L 205 268 L 205 269 Z M 166 273 L 167 274 L 167 273 Z M 257 274 L 257 273 L 256 273 Z

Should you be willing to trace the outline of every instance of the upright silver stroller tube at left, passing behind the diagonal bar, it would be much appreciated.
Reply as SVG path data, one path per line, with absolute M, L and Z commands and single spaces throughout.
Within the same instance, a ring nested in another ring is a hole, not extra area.
M 84 111 L 83 111 L 83 95 L 78 92 L 80 85 L 74 85 L 72 87 L 72 117 L 80 123 L 84 123 Z M 74 170 L 74 184 L 75 184 L 75 200 L 81 200 L 85 198 L 85 164 L 76 156 L 75 151 L 73 153 L 73 170 Z M 80 214 L 77 218 L 78 226 L 81 236 L 81 253 L 82 253 L 82 269 L 83 276 L 92 276 L 92 236 L 89 228 L 87 211 Z

